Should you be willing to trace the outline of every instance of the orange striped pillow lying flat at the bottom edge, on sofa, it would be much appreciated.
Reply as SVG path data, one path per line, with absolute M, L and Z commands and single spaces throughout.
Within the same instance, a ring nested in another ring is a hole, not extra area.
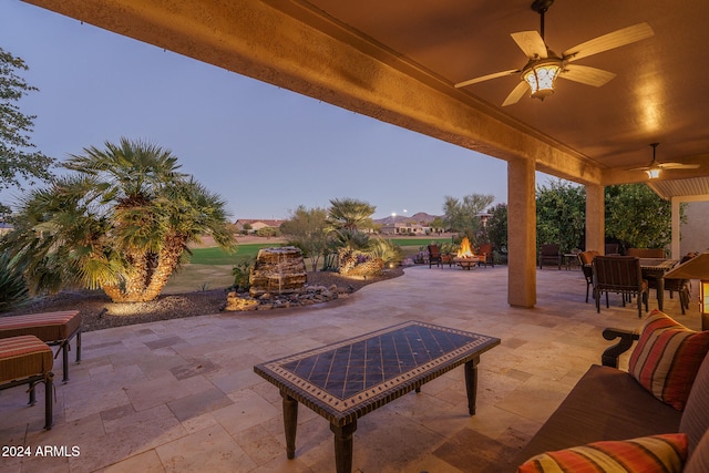
M 682 471 L 686 460 L 687 435 L 668 433 L 542 453 L 520 465 L 517 473 L 674 473 Z

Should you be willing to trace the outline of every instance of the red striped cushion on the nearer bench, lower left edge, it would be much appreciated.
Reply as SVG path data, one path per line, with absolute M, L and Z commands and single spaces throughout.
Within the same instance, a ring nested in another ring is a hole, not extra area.
M 52 370 L 52 350 L 34 336 L 0 339 L 0 383 Z

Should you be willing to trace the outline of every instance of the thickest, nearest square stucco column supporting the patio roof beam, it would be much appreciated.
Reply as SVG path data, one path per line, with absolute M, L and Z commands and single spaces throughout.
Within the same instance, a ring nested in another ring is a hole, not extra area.
M 507 302 L 536 304 L 536 200 L 534 163 L 507 163 Z

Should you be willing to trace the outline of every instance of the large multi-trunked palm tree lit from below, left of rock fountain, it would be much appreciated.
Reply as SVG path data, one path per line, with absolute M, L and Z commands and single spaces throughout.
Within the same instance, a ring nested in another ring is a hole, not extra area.
M 201 235 L 236 248 L 225 202 L 179 173 L 167 150 L 122 138 L 64 167 L 74 173 L 22 200 L 3 243 L 34 291 L 79 286 L 115 302 L 150 301 Z

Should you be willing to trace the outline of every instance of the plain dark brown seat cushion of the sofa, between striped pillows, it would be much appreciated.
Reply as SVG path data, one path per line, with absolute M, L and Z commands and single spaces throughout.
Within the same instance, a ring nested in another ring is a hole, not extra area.
M 627 440 L 679 431 L 681 412 L 659 402 L 630 374 L 592 366 L 516 457 L 603 440 Z

